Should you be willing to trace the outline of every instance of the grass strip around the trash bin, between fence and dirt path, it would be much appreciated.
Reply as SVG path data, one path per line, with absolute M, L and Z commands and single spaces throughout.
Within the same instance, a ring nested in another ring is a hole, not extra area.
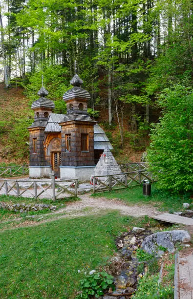
M 183 209 L 183 203 L 192 203 L 192 199 L 183 198 L 179 195 L 172 195 L 166 192 L 160 192 L 156 189 L 156 184 L 151 185 L 151 196 L 143 195 L 143 187 L 136 186 L 128 189 L 122 189 L 120 191 L 100 192 L 95 193 L 93 196 L 105 196 L 108 199 L 120 199 L 125 203 L 132 204 L 152 204 L 160 211 L 169 211 L 170 213 Z

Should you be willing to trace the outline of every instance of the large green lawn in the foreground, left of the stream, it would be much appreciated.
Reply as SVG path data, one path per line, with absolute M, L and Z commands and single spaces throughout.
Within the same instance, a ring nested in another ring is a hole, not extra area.
M 140 220 L 114 212 L 0 232 L 0 298 L 73 298 L 84 272 L 105 264 L 131 225 Z

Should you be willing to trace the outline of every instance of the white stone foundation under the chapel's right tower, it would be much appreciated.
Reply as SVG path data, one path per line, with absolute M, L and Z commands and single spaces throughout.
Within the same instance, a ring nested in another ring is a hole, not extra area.
M 89 181 L 94 169 L 95 166 L 60 166 L 60 176 L 64 180 L 78 178 L 80 182 Z

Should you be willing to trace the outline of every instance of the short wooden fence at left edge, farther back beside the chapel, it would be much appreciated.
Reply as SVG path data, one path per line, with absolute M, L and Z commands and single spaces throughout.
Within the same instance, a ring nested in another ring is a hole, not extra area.
M 0 177 L 10 177 L 29 174 L 29 165 L 16 165 L 9 167 L 0 167 Z

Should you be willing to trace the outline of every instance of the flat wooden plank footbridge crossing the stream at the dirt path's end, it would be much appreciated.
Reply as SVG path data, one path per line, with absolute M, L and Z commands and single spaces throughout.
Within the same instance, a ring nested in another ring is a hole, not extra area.
M 183 216 L 178 216 L 174 214 L 164 213 L 159 215 L 152 215 L 150 216 L 153 219 L 170 222 L 175 224 L 184 224 L 184 225 L 193 225 L 193 219 Z

